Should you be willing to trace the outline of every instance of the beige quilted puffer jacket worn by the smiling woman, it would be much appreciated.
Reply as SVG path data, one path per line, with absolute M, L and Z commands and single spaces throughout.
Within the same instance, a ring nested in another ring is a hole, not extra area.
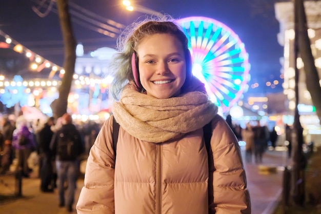
M 115 166 L 110 117 L 91 148 L 77 213 L 251 213 L 237 140 L 219 115 L 212 129 L 208 162 L 203 129 L 149 143 L 120 127 Z

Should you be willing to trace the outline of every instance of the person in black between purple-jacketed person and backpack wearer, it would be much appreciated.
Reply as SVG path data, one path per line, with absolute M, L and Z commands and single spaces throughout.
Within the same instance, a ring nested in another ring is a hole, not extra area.
M 51 126 L 54 125 L 54 118 L 48 119 L 45 126 L 39 131 L 39 152 L 41 157 L 41 186 L 40 189 L 43 192 L 52 192 L 54 188 L 54 175 L 52 165 L 52 154 L 50 150 L 50 142 L 53 136 Z

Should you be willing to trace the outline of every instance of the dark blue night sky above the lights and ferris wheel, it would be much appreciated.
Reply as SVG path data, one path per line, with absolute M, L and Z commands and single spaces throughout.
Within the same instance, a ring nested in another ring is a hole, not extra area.
M 70 10 L 88 17 L 88 11 L 97 22 L 112 20 L 123 25 L 144 18 L 144 13 L 130 12 L 122 5 L 122 0 L 69 0 Z M 44 1 L 0 0 L 0 30 L 15 41 L 51 62 L 62 66 L 64 49 L 57 9 L 54 5 L 45 16 L 38 16 L 32 6 Z M 278 80 L 280 57 L 283 47 L 277 42 L 279 23 L 274 14 L 274 2 L 269 0 L 141 0 L 133 4 L 171 15 L 173 18 L 205 16 L 213 18 L 231 28 L 245 44 L 251 64 L 249 85 L 259 82 L 260 87 L 249 89 L 249 93 L 277 93 L 282 85 L 271 89 L 264 82 Z M 46 4 L 48 5 L 49 0 Z M 46 8 L 46 7 L 45 7 Z M 45 8 L 39 8 L 45 12 Z M 83 10 L 83 11 L 82 11 Z M 73 29 L 78 43 L 83 43 L 85 52 L 100 47 L 114 48 L 116 38 L 98 33 L 94 23 L 74 17 Z M 87 19 L 88 20 L 88 19 Z

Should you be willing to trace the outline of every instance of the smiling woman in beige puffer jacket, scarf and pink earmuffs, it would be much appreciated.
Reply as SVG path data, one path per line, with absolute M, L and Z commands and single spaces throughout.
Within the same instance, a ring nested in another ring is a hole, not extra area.
M 192 75 L 184 31 L 171 20 L 131 26 L 111 61 L 121 97 L 90 149 L 77 213 L 251 213 L 237 139 Z

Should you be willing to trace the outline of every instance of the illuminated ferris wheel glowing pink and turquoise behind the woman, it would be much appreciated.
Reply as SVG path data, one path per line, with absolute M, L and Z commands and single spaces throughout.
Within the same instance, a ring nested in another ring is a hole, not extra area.
M 244 43 L 226 25 L 194 16 L 177 21 L 190 40 L 192 72 L 205 84 L 210 99 L 228 111 L 247 87 L 250 64 Z

